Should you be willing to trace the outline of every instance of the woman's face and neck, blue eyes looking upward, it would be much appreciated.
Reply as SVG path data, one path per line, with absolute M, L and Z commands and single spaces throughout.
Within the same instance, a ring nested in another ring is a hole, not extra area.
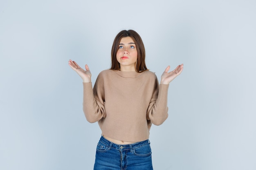
M 119 43 L 117 50 L 117 61 L 121 71 L 136 71 L 137 49 L 134 41 L 130 37 L 124 37 Z

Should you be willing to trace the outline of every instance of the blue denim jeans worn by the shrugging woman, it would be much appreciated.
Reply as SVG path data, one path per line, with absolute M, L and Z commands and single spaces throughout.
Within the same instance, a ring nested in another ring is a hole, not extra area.
M 149 140 L 117 145 L 101 137 L 94 170 L 153 170 Z

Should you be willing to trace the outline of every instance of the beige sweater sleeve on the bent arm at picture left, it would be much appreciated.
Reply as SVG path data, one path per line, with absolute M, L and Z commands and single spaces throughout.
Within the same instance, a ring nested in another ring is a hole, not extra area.
M 83 112 L 87 121 L 94 123 L 102 117 L 106 117 L 104 107 L 104 84 L 99 75 L 94 88 L 92 83 L 83 83 Z

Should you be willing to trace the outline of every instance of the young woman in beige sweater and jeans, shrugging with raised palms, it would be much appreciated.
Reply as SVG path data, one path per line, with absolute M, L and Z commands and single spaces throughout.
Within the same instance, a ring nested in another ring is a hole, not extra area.
M 171 72 L 168 66 L 159 85 L 146 67 L 144 44 L 133 30 L 117 34 L 111 57 L 111 68 L 99 73 L 93 88 L 88 65 L 83 70 L 69 61 L 83 79 L 85 117 L 98 121 L 102 131 L 94 170 L 153 170 L 149 130 L 167 119 L 168 85 L 183 64 Z

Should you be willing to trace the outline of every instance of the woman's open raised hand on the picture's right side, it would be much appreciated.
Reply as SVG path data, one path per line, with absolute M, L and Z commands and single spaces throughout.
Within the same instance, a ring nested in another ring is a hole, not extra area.
M 177 77 L 178 75 L 180 75 L 180 73 L 183 70 L 183 64 L 178 65 L 173 71 L 169 72 L 170 70 L 170 66 L 168 66 L 164 73 L 161 76 L 161 84 L 169 84 L 171 81 L 173 81 L 173 79 L 175 79 L 175 77 Z

